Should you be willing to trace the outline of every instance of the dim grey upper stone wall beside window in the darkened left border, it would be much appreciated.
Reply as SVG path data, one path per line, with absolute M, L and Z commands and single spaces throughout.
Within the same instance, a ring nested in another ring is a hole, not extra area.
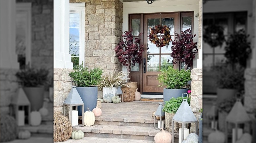
M 32 2 L 31 64 L 53 73 L 53 0 L 16 0 Z M 51 78 L 49 78 L 51 79 Z

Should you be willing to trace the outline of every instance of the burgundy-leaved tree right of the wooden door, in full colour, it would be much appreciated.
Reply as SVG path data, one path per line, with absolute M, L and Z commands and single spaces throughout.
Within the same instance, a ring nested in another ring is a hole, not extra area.
M 181 62 L 184 65 L 185 70 L 187 70 L 188 66 L 192 66 L 193 59 L 195 58 L 196 53 L 198 52 L 197 49 L 197 42 L 194 42 L 194 37 L 196 35 L 191 34 L 190 28 L 181 31 L 181 34 L 176 34 L 171 47 L 172 53 L 171 56 L 173 57 L 174 61 L 173 64 Z

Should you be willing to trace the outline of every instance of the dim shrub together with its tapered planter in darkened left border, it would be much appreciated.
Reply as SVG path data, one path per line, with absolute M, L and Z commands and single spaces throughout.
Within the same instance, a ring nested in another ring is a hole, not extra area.
M 46 69 L 32 69 L 26 66 L 18 71 L 15 76 L 23 85 L 30 103 L 31 111 L 38 111 L 43 106 L 44 88 L 48 80 L 49 71 Z

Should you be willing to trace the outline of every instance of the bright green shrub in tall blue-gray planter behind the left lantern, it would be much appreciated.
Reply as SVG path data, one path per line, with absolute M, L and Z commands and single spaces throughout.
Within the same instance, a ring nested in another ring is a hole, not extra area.
M 87 107 L 92 111 L 96 108 L 98 87 L 97 85 L 101 81 L 102 70 L 99 68 L 88 70 L 83 67 L 83 63 L 79 65 L 74 72 L 70 72 L 69 76 L 77 82 L 77 92 L 84 102 L 84 111 L 87 111 Z M 78 115 L 82 115 L 82 107 L 78 107 Z

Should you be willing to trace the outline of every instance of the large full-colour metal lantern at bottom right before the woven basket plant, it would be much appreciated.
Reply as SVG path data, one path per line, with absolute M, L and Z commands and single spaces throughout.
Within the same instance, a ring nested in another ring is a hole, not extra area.
M 182 93 L 182 98 L 183 98 L 183 94 L 187 94 L 187 93 Z M 198 121 L 194 113 L 192 112 L 189 104 L 187 103 L 187 99 L 183 99 L 179 109 L 177 110 L 177 112 L 175 113 L 172 119 L 172 143 L 174 143 L 174 127 L 175 127 L 174 122 L 181 123 L 181 142 L 184 140 L 184 125 L 187 127 L 187 124 L 195 123 L 196 134 L 197 134 Z

